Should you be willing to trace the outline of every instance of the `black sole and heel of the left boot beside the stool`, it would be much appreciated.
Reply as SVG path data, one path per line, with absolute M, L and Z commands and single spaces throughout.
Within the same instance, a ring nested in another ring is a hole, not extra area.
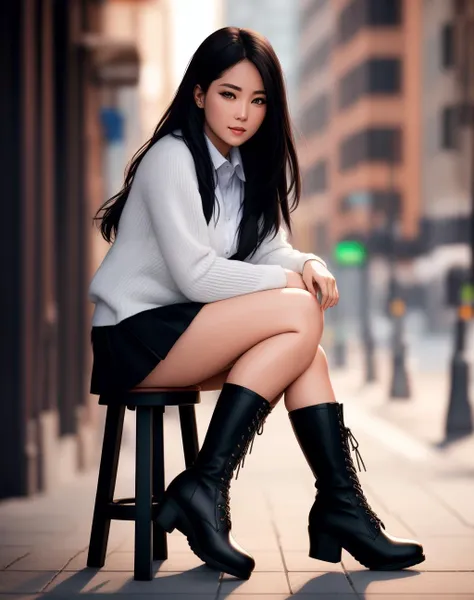
M 241 572 L 228 567 L 227 565 L 220 563 L 219 561 L 211 558 L 206 552 L 199 546 L 196 536 L 192 533 L 193 528 L 186 516 L 183 509 L 174 500 L 167 499 L 165 503 L 158 510 L 155 522 L 166 532 L 171 533 L 174 529 L 180 531 L 188 540 L 189 547 L 194 554 L 200 558 L 208 567 L 223 571 L 229 575 L 233 575 L 239 579 L 249 579 L 252 571 Z

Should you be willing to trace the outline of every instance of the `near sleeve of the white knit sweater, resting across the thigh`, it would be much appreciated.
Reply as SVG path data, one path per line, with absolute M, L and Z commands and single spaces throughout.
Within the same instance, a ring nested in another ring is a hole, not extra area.
M 194 160 L 184 142 L 163 140 L 137 170 L 137 183 L 158 246 L 176 285 L 191 301 L 215 302 L 283 288 L 279 265 L 252 265 L 217 256 L 202 209 Z

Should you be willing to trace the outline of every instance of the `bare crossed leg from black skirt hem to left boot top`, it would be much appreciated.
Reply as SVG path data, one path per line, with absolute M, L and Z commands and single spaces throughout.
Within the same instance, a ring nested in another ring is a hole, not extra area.
M 269 402 L 311 364 L 322 336 L 317 300 L 304 290 L 257 292 L 207 304 L 140 386 L 229 383 Z M 218 378 L 219 380 L 219 378 Z

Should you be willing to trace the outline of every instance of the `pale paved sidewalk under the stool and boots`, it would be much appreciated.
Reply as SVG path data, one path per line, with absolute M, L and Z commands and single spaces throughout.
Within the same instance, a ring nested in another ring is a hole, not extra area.
M 257 567 L 248 581 L 203 565 L 178 532 L 169 536 L 169 560 L 156 563 L 151 582 L 133 581 L 133 524 L 113 522 L 106 565 L 85 567 L 96 472 L 54 493 L 0 504 L 0 600 L 5 598 L 158 598 L 214 600 L 474 599 L 474 454 L 465 462 L 430 446 L 400 426 L 385 398 L 360 391 L 335 373 L 346 422 L 367 465 L 361 481 L 374 509 L 393 535 L 415 537 L 427 560 L 403 572 L 370 572 L 347 553 L 331 565 L 307 556 L 307 514 L 313 479 L 295 441 L 284 406 L 270 416 L 263 436 L 232 485 L 233 530 Z M 352 375 L 354 375 L 352 373 Z M 200 439 L 214 393 L 198 407 Z M 416 403 L 412 403 L 412 408 Z M 382 414 L 383 413 L 383 414 Z M 388 415 L 388 416 L 387 416 Z M 119 465 L 117 496 L 133 494 L 133 413 Z M 405 418 L 405 417 L 404 417 Z M 166 418 L 167 479 L 183 468 L 177 415 Z

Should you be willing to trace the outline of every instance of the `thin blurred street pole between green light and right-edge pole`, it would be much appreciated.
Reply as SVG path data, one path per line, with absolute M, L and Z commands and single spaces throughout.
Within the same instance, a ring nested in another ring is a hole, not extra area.
M 390 398 L 408 399 L 411 397 L 410 382 L 406 368 L 406 350 L 404 342 L 405 302 L 401 298 L 400 285 L 396 273 L 397 262 L 397 211 L 395 206 L 395 141 L 391 144 L 389 160 L 389 311 L 392 317 L 392 378 L 390 382 Z

